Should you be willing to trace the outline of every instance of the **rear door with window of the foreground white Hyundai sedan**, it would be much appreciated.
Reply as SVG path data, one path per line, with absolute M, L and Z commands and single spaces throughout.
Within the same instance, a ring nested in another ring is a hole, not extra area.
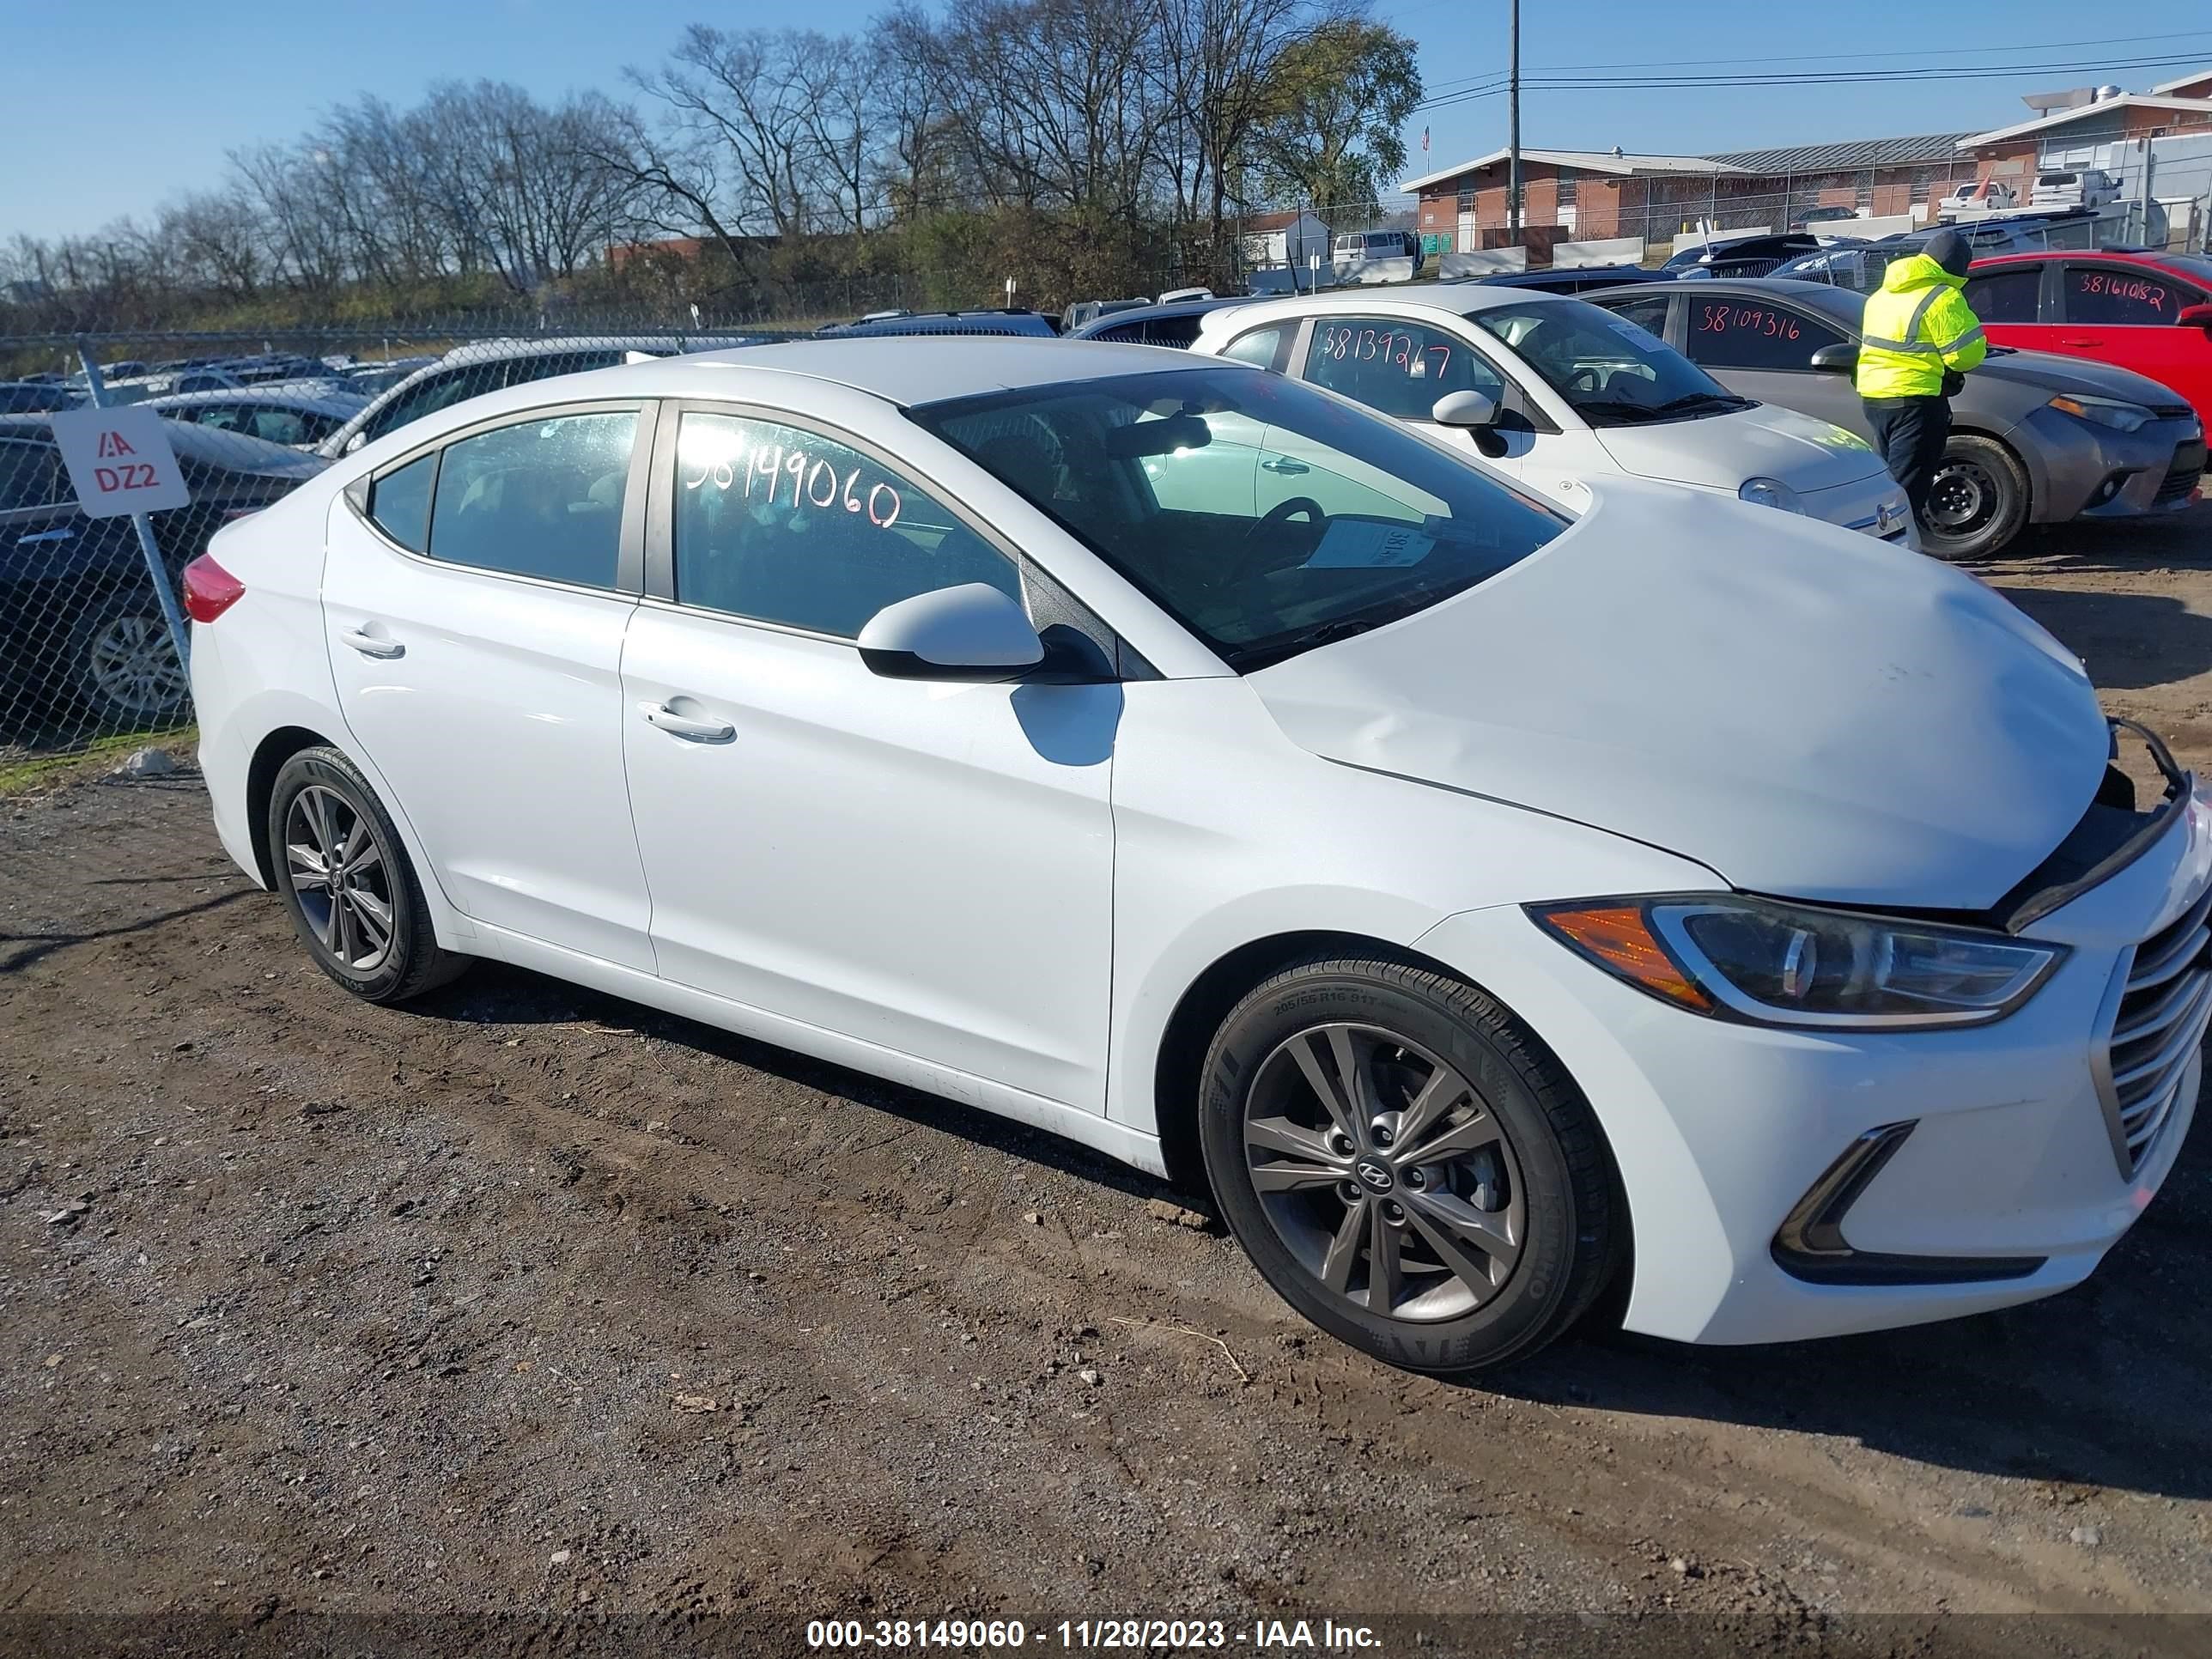
M 330 511 L 338 706 L 476 922 L 653 971 L 622 774 L 650 405 L 500 416 Z

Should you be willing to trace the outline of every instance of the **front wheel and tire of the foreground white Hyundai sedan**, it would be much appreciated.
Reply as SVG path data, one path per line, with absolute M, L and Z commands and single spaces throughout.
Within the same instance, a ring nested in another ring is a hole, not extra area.
M 1345 1055 L 1367 1124 L 1343 1110 Z M 1347 1117 L 1352 1137 L 1332 1130 Z M 1206 1053 L 1199 1144 L 1276 1294 L 1409 1371 L 1533 1354 L 1628 1243 L 1604 1135 L 1559 1062 L 1482 991 L 1409 962 L 1305 960 L 1245 995 Z

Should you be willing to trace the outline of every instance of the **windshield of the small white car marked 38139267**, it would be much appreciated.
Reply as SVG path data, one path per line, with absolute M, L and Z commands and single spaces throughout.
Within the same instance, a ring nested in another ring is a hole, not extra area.
M 1657 334 L 1579 299 L 1491 305 L 1469 319 L 1520 352 L 1593 427 L 1750 409 Z

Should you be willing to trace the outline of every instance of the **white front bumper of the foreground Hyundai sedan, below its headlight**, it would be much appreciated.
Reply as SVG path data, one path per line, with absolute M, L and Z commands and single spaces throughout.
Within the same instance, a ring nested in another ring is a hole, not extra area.
M 2212 810 L 2194 805 L 2026 927 L 2070 953 L 2024 1009 L 1966 1031 L 1705 1020 L 1590 967 L 1517 907 L 1453 916 L 1420 949 L 1528 1020 L 1588 1095 L 1628 1192 L 1628 1327 L 1772 1343 L 1986 1312 L 2097 1267 L 2172 1168 L 2203 1071 L 2192 1046 L 2126 1168 L 2099 1088 L 2112 987 L 2208 887 Z M 1869 1141 L 1871 1168 L 1838 1170 Z

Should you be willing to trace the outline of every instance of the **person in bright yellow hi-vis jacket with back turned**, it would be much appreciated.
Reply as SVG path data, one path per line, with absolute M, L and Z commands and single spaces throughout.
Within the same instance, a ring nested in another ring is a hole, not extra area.
M 1962 234 L 1938 230 L 1922 252 L 1891 261 L 1860 323 L 1858 396 L 1913 518 L 1927 511 L 1951 438 L 1951 394 L 1989 354 L 1982 321 L 1960 292 L 1971 259 Z

